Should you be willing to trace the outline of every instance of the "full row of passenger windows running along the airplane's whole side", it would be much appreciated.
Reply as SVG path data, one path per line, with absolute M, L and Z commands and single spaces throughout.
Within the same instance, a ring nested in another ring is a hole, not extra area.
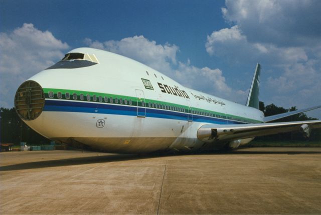
M 54 92 L 53 91 L 49 91 L 49 98 L 53 98 L 54 97 Z M 62 92 L 57 92 L 57 97 L 59 99 L 61 99 L 63 96 Z M 78 94 L 77 93 L 72 93 L 72 95 L 69 93 L 69 92 L 66 92 L 65 93 L 65 98 L 66 99 L 70 99 L 70 97 L 72 96 L 72 98 L 74 100 L 77 100 L 78 98 Z M 87 101 L 90 101 L 91 100 L 91 95 L 90 94 L 83 94 L 83 93 L 80 93 L 79 95 L 79 98 L 80 100 L 86 100 Z M 93 101 L 98 101 L 99 102 L 109 102 L 109 103 L 119 103 L 119 104 L 129 104 L 129 105 L 132 105 L 132 100 L 131 99 L 128 99 L 125 98 L 125 99 L 122 99 L 122 98 L 113 98 L 112 96 L 110 97 L 107 97 L 107 96 L 104 96 L 102 97 L 101 95 L 97 96 L 97 95 L 93 95 L 92 96 L 92 100 Z M 145 106 L 145 102 L 142 101 L 141 102 L 141 105 L 142 106 Z M 161 103 L 154 103 L 154 102 L 148 102 L 148 107 L 153 107 L 153 108 L 160 108 L 160 109 L 168 109 L 168 110 L 174 110 L 174 111 L 180 111 L 180 112 L 186 112 L 186 109 L 183 108 L 183 107 L 178 107 L 178 106 L 172 106 L 172 105 L 167 105 L 167 104 L 161 104 Z M 224 116 L 224 115 L 219 115 L 219 114 L 214 114 L 214 113 L 210 113 L 210 112 L 205 112 L 205 111 L 199 111 L 199 110 L 192 110 L 192 113 L 194 114 L 199 114 L 199 115 L 206 115 L 206 116 L 212 116 L 212 117 L 217 117 L 217 118 L 225 118 L 225 119 L 232 119 L 232 120 L 236 120 L 236 121 L 241 121 L 239 118 L 236 118 L 236 117 L 230 117 L 230 116 Z M 249 120 L 245 120 L 246 122 L 250 122 Z

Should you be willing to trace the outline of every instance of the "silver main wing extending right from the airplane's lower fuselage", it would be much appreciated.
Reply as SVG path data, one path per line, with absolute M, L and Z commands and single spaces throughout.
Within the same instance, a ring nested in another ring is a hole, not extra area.
M 197 131 L 198 139 L 206 142 L 235 140 L 289 131 L 300 131 L 309 136 L 312 128 L 321 127 L 321 120 L 291 121 L 257 124 L 205 124 Z

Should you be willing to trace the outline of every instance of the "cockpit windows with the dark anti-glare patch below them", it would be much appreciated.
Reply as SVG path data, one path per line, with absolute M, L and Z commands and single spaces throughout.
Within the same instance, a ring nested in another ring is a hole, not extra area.
M 67 53 L 64 58 L 57 62 L 56 64 L 46 68 L 46 69 L 54 69 L 54 68 L 81 68 L 87 67 L 91 65 L 95 65 L 99 63 L 95 54 L 89 53 Z

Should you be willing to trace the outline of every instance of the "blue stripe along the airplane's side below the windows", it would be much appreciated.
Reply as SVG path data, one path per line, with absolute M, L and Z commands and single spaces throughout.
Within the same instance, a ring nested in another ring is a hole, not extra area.
M 139 109 L 139 115 L 143 115 L 144 107 L 138 107 L 138 109 Z M 146 117 L 188 120 L 190 115 L 190 117 L 193 116 L 193 121 L 197 121 L 197 122 L 208 122 L 208 123 L 215 123 L 215 124 L 245 123 L 240 121 L 215 118 L 211 116 L 189 114 L 185 112 L 176 112 L 172 110 L 155 109 L 155 108 L 149 108 L 149 107 L 146 107 L 145 109 L 146 109 L 146 112 L 145 112 Z M 44 111 L 88 112 L 88 113 L 104 113 L 104 114 L 136 116 L 137 106 L 46 99 Z

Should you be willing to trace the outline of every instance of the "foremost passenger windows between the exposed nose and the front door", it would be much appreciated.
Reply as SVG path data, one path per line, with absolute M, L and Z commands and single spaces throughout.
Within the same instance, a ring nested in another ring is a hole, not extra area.
M 49 91 L 48 95 L 49 95 L 50 98 L 53 98 L 54 97 L 54 92 L 53 91 Z M 57 92 L 57 97 L 59 99 L 61 99 L 62 98 L 62 92 Z M 70 94 L 69 92 L 66 92 L 65 93 L 65 98 L 66 99 L 70 99 L 70 97 L 72 97 L 74 100 L 77 100 L 78 99 L 78 94 L 76 92 L 74 92 L 72 94 Z M 85 100 L 85 98 L 86 98 L 87 101 L 91 101 L 91 98 L 92 98 L 93 101 L 97 101 L 97 99 L 98 99 L 98 101 L 100 101 L 100 102 L 102 102 L 104 100 L 104 102 L 108 102 L 109 101 L 109 103 L 114 103 L 115 102 L 116 104 L 117 103 L 120 103 L 120 104 L 124 103 L 124 104 L 132 105 L 132 100 L 131 99 L 128 99 L 128 100 L 127 100 L 127 98 L 125 98 L 125 99 L 119 98 L 118 99 L 117 97 L 113 98 L 112 96 L 110 96 L 110 97 L 107 97 L 107 96 L 102 97 L 101 95 L 99 95 L 99 96 L 93 95 L 91 97 L 90 94 L 86 94 L 85 95 L 83 93 L 80 93 L 79 94 L 79 98 L 80 98 L 80 100 Z

